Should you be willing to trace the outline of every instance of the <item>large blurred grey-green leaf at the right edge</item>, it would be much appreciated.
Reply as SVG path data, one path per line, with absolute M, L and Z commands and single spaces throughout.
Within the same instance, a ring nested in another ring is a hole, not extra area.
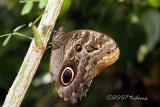
M 160 13 L 157 10 L 147 10 L 140 17 L 147 34 L 147 48 L 151 51 L 160 37 Z

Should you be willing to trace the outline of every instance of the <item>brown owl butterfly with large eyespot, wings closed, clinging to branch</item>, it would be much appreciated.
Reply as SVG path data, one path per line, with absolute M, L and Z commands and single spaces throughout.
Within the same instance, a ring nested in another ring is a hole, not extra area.
M 61 28 L 52 40 L 51 79 L 60 97 L 76 103 L 91 85 L 92 79 L 119 58 L 115 41 L 104 33 Z

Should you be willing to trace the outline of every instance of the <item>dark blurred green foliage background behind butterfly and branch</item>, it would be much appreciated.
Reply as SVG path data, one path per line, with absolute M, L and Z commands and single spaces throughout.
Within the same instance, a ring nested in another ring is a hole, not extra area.
M 41 6 L 39 2 L 32 3 L 33 6 L 25 10 L 28 14 L 24 12 L 26 15 L 21 16 L 27 3 L 0 1 L 0 35 L 11 33 L 17 26 L 28 24 L 43 13 L 43 3 Z M 86 98 L 71 105 L 59 98 L 54 84 L 43 81 L 49 73 L 50 50 L 47 50 L 22 107 L 160 106 L 160 0 L 68 0 L 55 30 L 61 26 L 67 32 L 92 29 L 108 34 L 117 42 L 120 58 L 93 80 Z M 27 27 L 21 33 L 32 36 Z M 4 47 L 4 40 L 0 38 L 0 106 L 30 44 L 30 40 L 14 36 Z M 108 94 L 139 95 L 148 100 L 106 100 Z

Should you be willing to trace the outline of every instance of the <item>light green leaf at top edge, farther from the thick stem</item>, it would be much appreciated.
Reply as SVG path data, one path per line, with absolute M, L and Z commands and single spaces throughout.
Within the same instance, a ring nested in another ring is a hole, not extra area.
M 28 14 L 31 11 L 32 7 L 33 7 L 33 1 L 32 0 L 27 1 L 26 4 L 23 6 L 21 15 Z

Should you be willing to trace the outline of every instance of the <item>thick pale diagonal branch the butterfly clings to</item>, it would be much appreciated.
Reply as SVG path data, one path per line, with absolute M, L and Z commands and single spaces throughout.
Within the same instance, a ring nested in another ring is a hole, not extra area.
M 50 29 L 53 29 L 55 25 L 62 4 L 63 0 L 48 0 L 45 12 L 38 26 L 43 48 L 38 48 L 34 40 L 32 40 L 18 75 L 9 89 L 3 107 L 20 106 L 45 52 L 51 34 Z

